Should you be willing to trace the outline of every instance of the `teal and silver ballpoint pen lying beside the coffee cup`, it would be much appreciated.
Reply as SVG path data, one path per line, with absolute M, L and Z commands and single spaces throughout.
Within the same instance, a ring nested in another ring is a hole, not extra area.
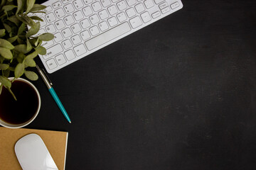
M 48 90 L 50 91 L 51 96 L 53 96 L 55 102 L 57 103 L 58 107 L 60 108 L 60 111 L 63 113 L 65 118 L 68 120 L 68 122 L 71 123 L 68 113 L 67 113 L 67 111 L 65 111 L 65 108 L 64 108 L 63 104 L 61 103 L 60 98 L 58 98 L 57 94 L 55 93 L 55 91 L 53 89 L 53 84 L 50 82 L 50 79 L 46 76 L 46 74 L 43 72 L 43 70 L 38 67 L 38 65 L 36 65 L 36 69 L 38 69 L 40 76 L 42 77 Z

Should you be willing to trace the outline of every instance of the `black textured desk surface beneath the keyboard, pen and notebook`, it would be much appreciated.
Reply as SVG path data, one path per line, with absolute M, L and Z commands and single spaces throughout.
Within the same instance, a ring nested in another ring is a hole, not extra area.
M 256 1 L 183 5 L 49 75 L 72 124 L 34 82 L 66 169 L 256 169 Z

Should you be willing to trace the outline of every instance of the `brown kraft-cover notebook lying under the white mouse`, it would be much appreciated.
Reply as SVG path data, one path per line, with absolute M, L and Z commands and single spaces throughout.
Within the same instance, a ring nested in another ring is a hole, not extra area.
M 36 133 L 46 144 L 59 170 L 65 169 L 65 157 L 68 144 L 68 132 L 33 129 L 9 129 L 0 127 L 0 169 L 21 169 L 14 152 L 14 145 L 21 137 Z

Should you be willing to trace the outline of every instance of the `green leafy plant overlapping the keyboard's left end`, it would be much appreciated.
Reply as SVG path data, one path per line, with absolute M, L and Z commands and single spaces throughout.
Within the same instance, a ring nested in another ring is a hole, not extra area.
M 31 71 L 36 67 L 34 58 L 46 55 L 43 41 L 54 36 L 43 33 L 36 36 L 43 21 L 34 13 L 44 13 L 46 6 L 35 4 L 36 0 L 1 0 L 0 4 L 0 95 L 3 88 L 11 91 L 11 83 L 23 74 L 34 81 L 38 75 Z M 9 77 L 14 77 L 10 80 Z M 15 98 L 16 99 L 16 98 Z

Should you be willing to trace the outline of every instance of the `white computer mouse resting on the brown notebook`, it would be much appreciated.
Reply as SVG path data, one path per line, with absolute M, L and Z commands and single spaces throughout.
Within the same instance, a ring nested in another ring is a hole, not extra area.
M 34 133 L 21 137 L 14 150 L 23 170 L 58 169 L 42 138 Z

